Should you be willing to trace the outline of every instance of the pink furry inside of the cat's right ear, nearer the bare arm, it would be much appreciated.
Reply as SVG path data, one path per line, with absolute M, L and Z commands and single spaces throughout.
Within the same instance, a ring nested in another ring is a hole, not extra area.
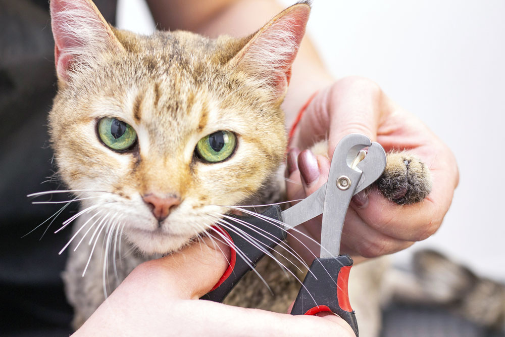
M 273 100 L 284 98 L 291 77 L 291 65 L 305 34 L 310 14 L 309 2 L 293 5 L 279 13 L 229 61 L 272 89 Z

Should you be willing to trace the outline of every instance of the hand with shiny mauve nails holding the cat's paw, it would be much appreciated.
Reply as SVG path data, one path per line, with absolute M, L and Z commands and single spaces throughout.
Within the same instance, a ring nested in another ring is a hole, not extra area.
M 391 101 L 374 82 L 361 77 L 347 77 L 321 90 L 307 108 L 297 126 L 288 153 L 289 200 L 312 194 L 328 178 L 330 162 L 314 156 L 307 149 L 328 137 L 331 158 L 338 141 L 349 133 L 363 133 L 378 141 L 386 152 L 408 150 L 417 155 L 432 176 L 432 191 L 421 203 L 399 206 L 386 200 L 376 188 L 367 197 L 352 199 L 345 217 L 341 251 L 371 258 L 394 253 L 432 235 L 447 212 L 458 185 L 456 159 L 449 148 L 416 116 Z M 301 178 L 300 178 L 301 173 Z M 321 219 L 313 219 L 301 231 L 320 241 Z M 293 235 L 315 254 L 319 246 L 299 233 Z M 296 239 L 290 244 L 307 261 L 314 255 Z

